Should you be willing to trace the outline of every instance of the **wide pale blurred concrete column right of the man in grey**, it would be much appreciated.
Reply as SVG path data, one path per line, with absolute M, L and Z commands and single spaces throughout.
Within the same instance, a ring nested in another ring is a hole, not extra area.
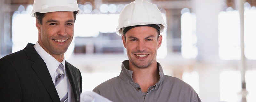
M 221 67 L 218 55 L 218 14 L 224 0 L 192 0 L 192 12 L 196 14 L 198 47 L 198 72 L 202 102 L 220 101 Z M 217 62 L 216 62 L 217 61 Z

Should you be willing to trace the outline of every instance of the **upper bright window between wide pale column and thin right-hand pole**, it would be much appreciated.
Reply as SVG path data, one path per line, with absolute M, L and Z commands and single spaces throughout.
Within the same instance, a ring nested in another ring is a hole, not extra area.
M 240 59 L 240 20 L 238 11 L 220 12 L 218 24 L 220 59 Z

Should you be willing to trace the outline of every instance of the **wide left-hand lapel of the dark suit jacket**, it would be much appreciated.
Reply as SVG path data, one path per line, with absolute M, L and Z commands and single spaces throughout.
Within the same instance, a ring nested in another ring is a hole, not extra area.
M 47 66 L 44 60 L 38 55 L 38 53 L 36 52 L 33 46 L 34 46 L 33 44 L 28 44 L 24 48 L 24 51 L 28 55 L 28 59 L 34 61 L 32 68 L 36 72 L 37 76 L 40 78 L 41 82 L 44 84 L 44 87 L 48 91 L 53 102 L 60 102 L 59 95 L 52 82 L 52 77 L 47 69 Z

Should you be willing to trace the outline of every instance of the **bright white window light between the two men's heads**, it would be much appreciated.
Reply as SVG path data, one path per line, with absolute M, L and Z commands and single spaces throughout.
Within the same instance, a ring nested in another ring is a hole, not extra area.
M 97 37 L 99 32 L 116 32 L 119 14 L 80 14 L 76 17 L 75 37 Z

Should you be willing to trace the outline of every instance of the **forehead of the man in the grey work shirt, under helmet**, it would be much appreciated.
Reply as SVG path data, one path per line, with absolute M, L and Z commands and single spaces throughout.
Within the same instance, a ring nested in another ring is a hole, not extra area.
M 139 26 L 128 30 L 125 36 L 157 36 L 158 32 L 156 28 L 149 26 Z

